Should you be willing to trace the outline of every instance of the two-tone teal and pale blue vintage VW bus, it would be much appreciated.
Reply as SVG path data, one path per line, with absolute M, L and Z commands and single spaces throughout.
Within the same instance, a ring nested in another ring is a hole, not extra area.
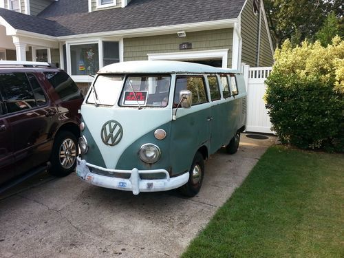
M 204 160 L 235 153 L 246 120 L 237 71 L 178 61 L 100 69 L 81 107 L 78 177 L 110 189 L 200 191 Z

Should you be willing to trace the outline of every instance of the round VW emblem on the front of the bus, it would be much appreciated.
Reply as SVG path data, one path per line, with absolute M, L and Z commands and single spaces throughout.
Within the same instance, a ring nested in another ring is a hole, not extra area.
M 119 122 L 110 120 L 105 122 L 100 132 L 105 145 L 115 146 L 123 136 L 123 129 Z

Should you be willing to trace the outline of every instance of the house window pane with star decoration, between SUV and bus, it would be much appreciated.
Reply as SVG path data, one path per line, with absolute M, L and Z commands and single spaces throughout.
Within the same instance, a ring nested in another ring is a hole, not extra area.
M 71 45 L 72 75 L 96 74 L 99 69 L 98 43 Z

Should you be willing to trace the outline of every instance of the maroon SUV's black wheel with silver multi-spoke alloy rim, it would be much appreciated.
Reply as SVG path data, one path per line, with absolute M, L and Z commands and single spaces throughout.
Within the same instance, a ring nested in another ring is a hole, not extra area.
M 78 156 L 78 144 L 76 137 L 70 131 L 60 131 L 54 140 L 50 162 L 52 167 L 49 173 L 63 177 L 74 171 L 76 157 Z

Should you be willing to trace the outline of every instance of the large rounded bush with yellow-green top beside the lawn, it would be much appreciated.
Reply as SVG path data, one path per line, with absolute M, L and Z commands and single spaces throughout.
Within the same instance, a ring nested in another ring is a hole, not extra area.
M 266 80 L 266 107 L 281 142 L 301 149 L 344 150 L 344 43 L 334 39 L 291 47 L 275 53 Z

